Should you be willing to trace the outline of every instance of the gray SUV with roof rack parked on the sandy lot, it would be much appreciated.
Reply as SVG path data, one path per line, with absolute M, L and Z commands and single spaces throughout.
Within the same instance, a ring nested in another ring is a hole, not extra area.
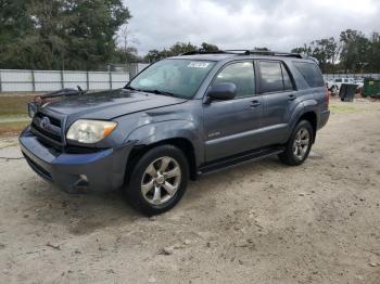
M 329 118 L 313 59 L 190 52 L 150 65 L 125 88 L 63 90 L 29 104 L 29 166 L 66 192 L 122 189 L 145 215 L 174 207 L 189 179 L 270 155 L 308 156 Z

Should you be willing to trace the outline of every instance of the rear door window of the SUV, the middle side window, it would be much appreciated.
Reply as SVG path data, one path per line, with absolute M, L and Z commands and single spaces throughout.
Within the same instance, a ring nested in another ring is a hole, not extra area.
M 262 92 L 278 92 L 283 90 L 282 72 L 279 62 L 259 62 Z

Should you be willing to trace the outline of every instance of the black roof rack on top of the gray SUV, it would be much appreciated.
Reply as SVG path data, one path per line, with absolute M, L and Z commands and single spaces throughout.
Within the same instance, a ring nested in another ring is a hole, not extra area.
M 205 50 L 195 50 L 182 53 L 181 55 L 194 55 L 194 54 L 237 54 L 237 55 L 269 55 L 269 56 L 288 56 L 296 59 L 307 59 L 308 56 L 300 53 L 291 52 L 281 52 L 281 51 L 271 51 L 271 50 L 243 50 L 243 49 L 230 49 L 230 50 L 219 50 L 219 51 L 205 51 Z

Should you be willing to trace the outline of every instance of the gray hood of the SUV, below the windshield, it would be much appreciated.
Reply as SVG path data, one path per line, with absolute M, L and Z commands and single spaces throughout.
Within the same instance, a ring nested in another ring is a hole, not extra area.
M 42 109 L 71 118 L 113 119 L 183 102 L 185 99 L 118 89 L 62 98 L 47 103 Z

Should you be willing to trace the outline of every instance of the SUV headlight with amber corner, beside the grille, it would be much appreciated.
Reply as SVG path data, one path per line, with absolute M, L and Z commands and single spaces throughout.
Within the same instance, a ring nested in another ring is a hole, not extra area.
M 97 143 L 116 128 L 115 121 L 76 120 L 68 129 L 66 138 L 80 143 Z

